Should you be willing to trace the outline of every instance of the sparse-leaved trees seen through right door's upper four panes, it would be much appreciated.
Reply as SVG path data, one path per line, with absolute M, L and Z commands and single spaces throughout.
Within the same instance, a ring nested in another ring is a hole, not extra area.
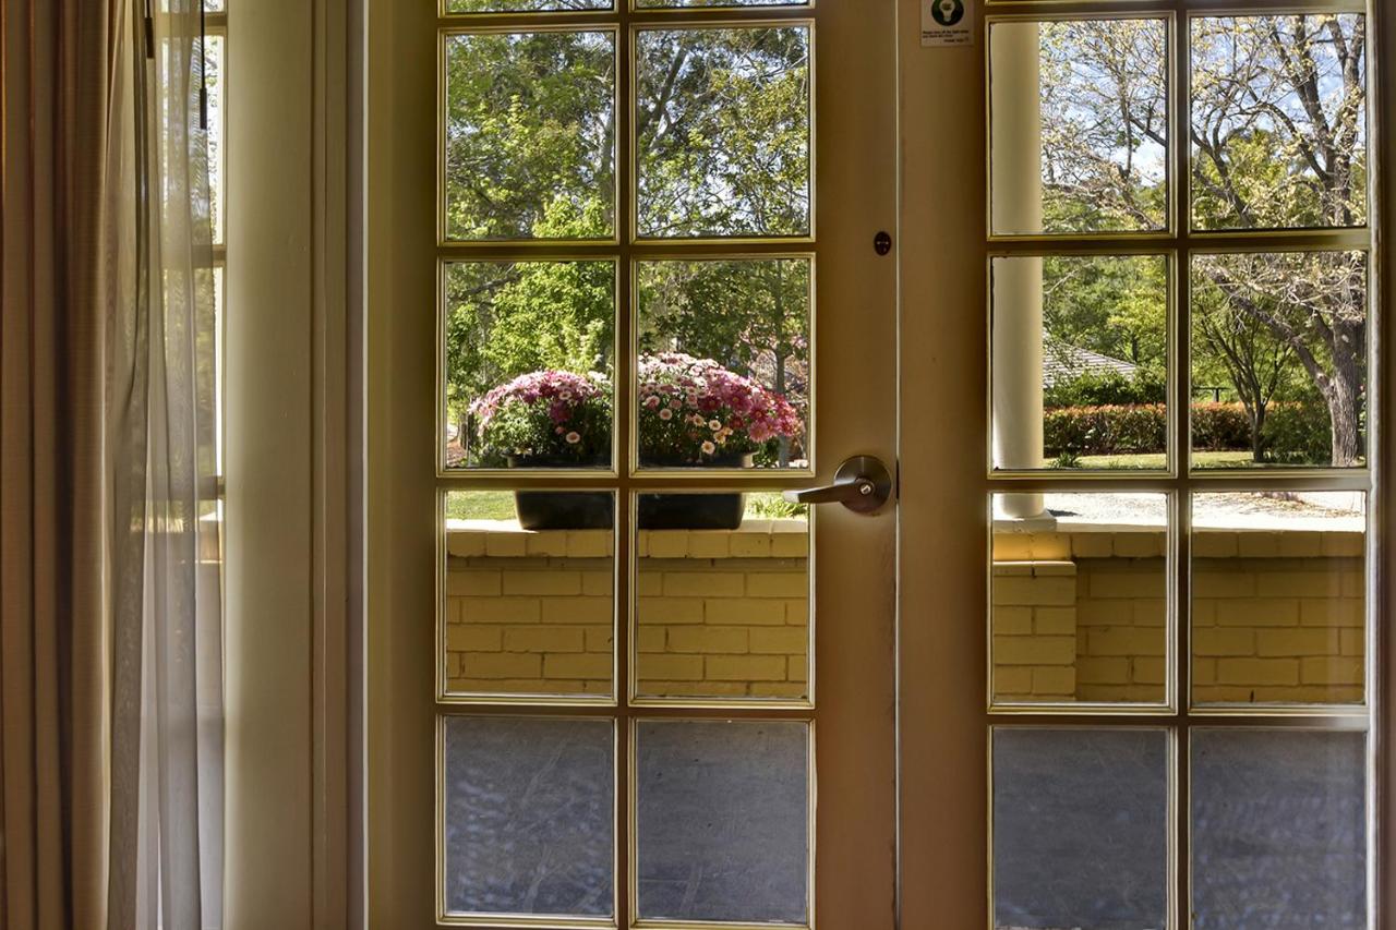
M 1367 219 L 1365 18 L 1198 17 L 1189 40 L 1194 228 L 1305 229 Z M 1043 226 L 1163 226 L 1167 204 L 1161 20 L 1044 24 Z M 1044 263 L 1048 332 L 1146 366 L 1167 332 L 1157 263 Z M 1238 401 L 1255 458 L 1293 461 L 1266 436 L 1272 402 L 1326 411 L 1321 464 L 1364 455 L 1367 261 L 1344 251 L 1198 256 L 1192 384 Z

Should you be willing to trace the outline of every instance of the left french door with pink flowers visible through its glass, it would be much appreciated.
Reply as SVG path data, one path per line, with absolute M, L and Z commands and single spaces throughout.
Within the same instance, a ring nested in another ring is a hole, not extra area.
M 893 15 L 370 4 L 371 926 L 892 926 Z

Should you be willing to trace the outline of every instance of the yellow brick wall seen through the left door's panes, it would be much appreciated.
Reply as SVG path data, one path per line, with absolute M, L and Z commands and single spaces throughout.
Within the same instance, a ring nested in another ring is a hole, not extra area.
M 641 533 L 639 694 L 807 694 L 808 536 L 785 522 Z M 599 531 L 448 533 L 448 688 L 610 693 L 610 546 Z

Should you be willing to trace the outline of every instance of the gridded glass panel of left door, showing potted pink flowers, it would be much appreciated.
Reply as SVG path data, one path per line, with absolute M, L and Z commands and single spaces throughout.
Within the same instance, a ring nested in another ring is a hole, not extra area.
M 437 919 L 801 927 L 814 15 L 628 6 L 437 24 Z

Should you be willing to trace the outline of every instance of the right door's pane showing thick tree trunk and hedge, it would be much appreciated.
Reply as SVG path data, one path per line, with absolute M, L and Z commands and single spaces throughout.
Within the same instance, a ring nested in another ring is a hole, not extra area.
M 1194 468 L 1367 461 L 1367 257 L 1192 261 Z

